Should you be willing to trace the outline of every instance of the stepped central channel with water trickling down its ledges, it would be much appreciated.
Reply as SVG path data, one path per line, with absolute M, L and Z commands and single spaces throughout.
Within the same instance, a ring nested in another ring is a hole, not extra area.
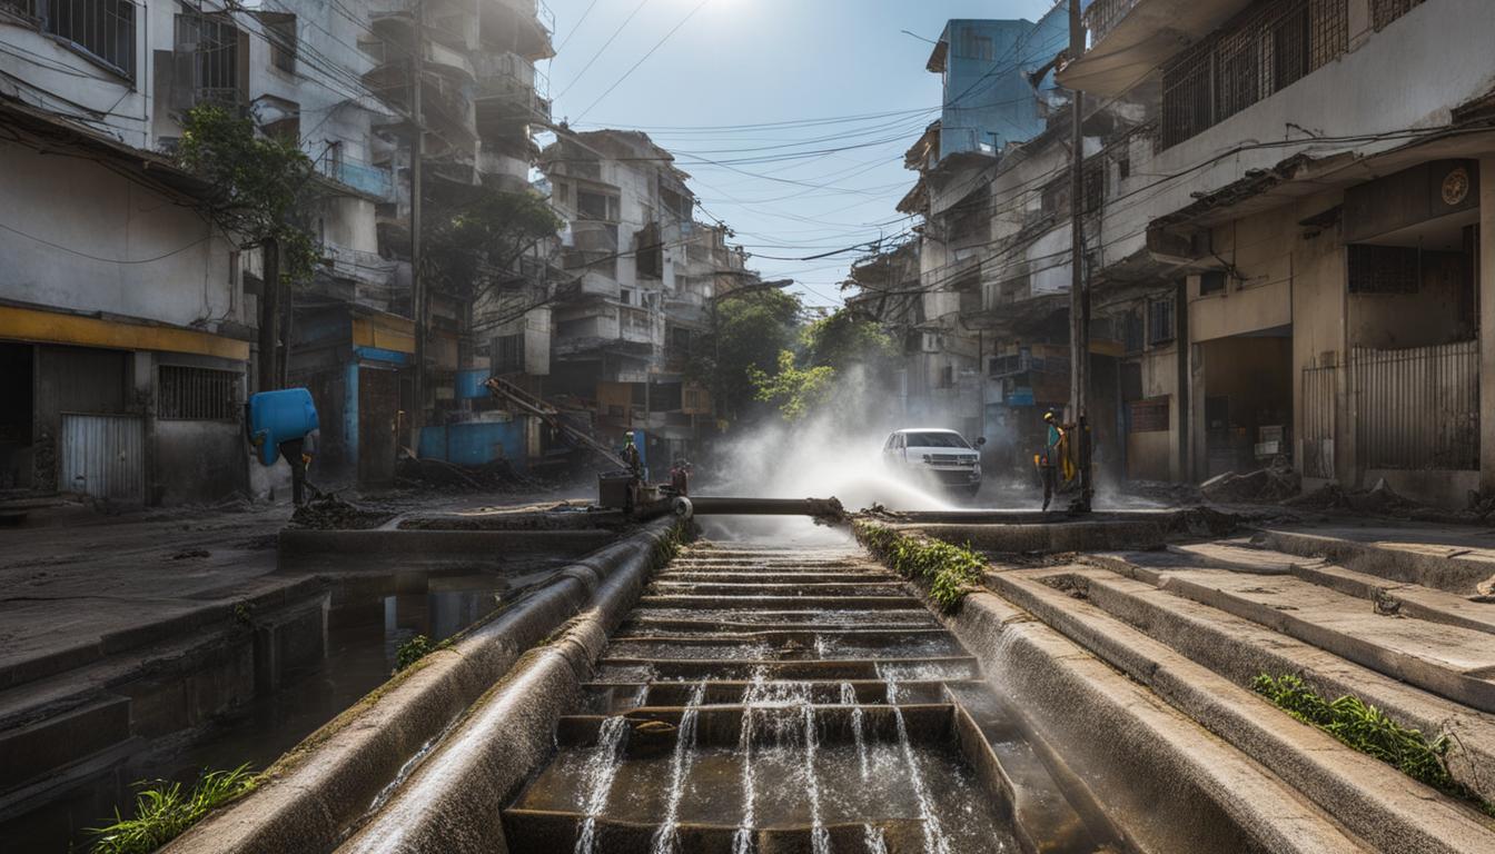
M 558 722 L 510 850 L 1120 851 L 979 678 L 851 546 L 692 546 Z

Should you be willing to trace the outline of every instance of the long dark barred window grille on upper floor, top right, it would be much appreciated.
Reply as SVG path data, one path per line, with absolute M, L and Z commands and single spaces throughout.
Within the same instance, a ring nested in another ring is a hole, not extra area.
M 1257 3 L 1163 67 L 1163 147 L 1287 88 L 1346 49 L 1346 0 Z

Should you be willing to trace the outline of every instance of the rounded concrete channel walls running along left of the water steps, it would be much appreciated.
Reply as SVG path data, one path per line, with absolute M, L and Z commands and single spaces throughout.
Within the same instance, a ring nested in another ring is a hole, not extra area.
M 535 676 L 535 664 L 552 661 L 558 649 L 570 649 L 573 643 L 549 643 L 528 657 L 525 652 L 555 634 L 570 619 L 592 625 L 598 615 L 613 613 L 614 606 L 610 603 L 620 595 L 631 603 L 674 526 L 673 519 L 652 522 L 635 534 L 559 570 L 553 580 L 529 597 L 477 628 L 468 630 L 450 648 L 422 658 L 308 736 L 265 772 L 263 782 L 253 794 L 214 814 L 167 845 L 164 851 L 170 854 L 330 851 L 375 805 L 384 800 L 389 800 L 390 808 L 407 803 L 411 796 L 402 784 L 408 787 L 426 779 L 426 769 L 420 766 L 426 754 L 435 758 L 449 752 L 447 745 L 451 739 L 469 733 L 474 725 L 492 718 L 495 701 L 513 703 L 516 692 L 525 703 L 570 701 L 574 688 L 570 694 L 556 688 L 546 689 L 541 685 L 544 679 Z M 625 595 L 625 591 L 632 592 Z M 616 613 L 620 615 L 623 610 Z M 573 634 L 574 628 L 565 637 Z M 605 631 L 601 637 L 605 637 Z M 588 658 L 583 664 L 589 663 Z M 561 681 L 561 688 L 564 682 Z M 463 722 L 454 724 L 463 712 L 466 712 Z M 520 710 L 505 713 L 502 719 L 505 727 L 543 725 L 543 748 L 549 751 L 549 727 L 559 715 L 559 709 L 547 707 L 546 713 L 549 716 L 541 718 L 534 712 Z M 444 739 L 453 725 L 457 728 Z M 519 760 L 526 754 L 504 752 L 514 745 L 514 739 L 493 740 L 501 748 L 501 764 L 513 764 L 520 775 L 517 779 L 522 781 L 531 770 L 528 766 L 517 767 L 525 764 Z M 443 763 L 432 766 L 438 772 L 446 767 Z M 413 769 L 414 775 L 407 782 L 405 778 Z M 387 814 L 389 809 L 381 812 Z M 496 817 L 495 806 L 489 820 L 496 824 Z M 481 827 L 484 821 L 477 815 L 471 820 L 472 827 Z M 359 839 L 365 838 L 368 832 L 359 835 Z M 456 848 L 450 839 L 438 835 L 431 841 L 431 847 L 423 850 Z M 484 850 L 493 851 L 492 842 Z

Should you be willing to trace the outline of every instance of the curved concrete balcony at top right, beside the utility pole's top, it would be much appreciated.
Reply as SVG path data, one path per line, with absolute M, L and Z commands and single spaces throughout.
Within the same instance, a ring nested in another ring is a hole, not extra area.
M 1096 0 L 1084 12 L 1090 48 L 1064 66 L 1058 84 L 1096 96 L 1120 96 L 1154 69 L 1218 30 L 1251 0 Z

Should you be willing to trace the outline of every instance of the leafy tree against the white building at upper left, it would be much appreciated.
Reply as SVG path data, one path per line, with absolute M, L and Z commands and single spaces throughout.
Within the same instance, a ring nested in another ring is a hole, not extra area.
M 295 141 L 257 136 L 248 118 L 205 103 L 182 117 L 176 162 L 208 185 L 218 227 L 245 248 L 277 247 L 283 281 L 311 278 L 318 250 L 302 212 L 315 168 Z

